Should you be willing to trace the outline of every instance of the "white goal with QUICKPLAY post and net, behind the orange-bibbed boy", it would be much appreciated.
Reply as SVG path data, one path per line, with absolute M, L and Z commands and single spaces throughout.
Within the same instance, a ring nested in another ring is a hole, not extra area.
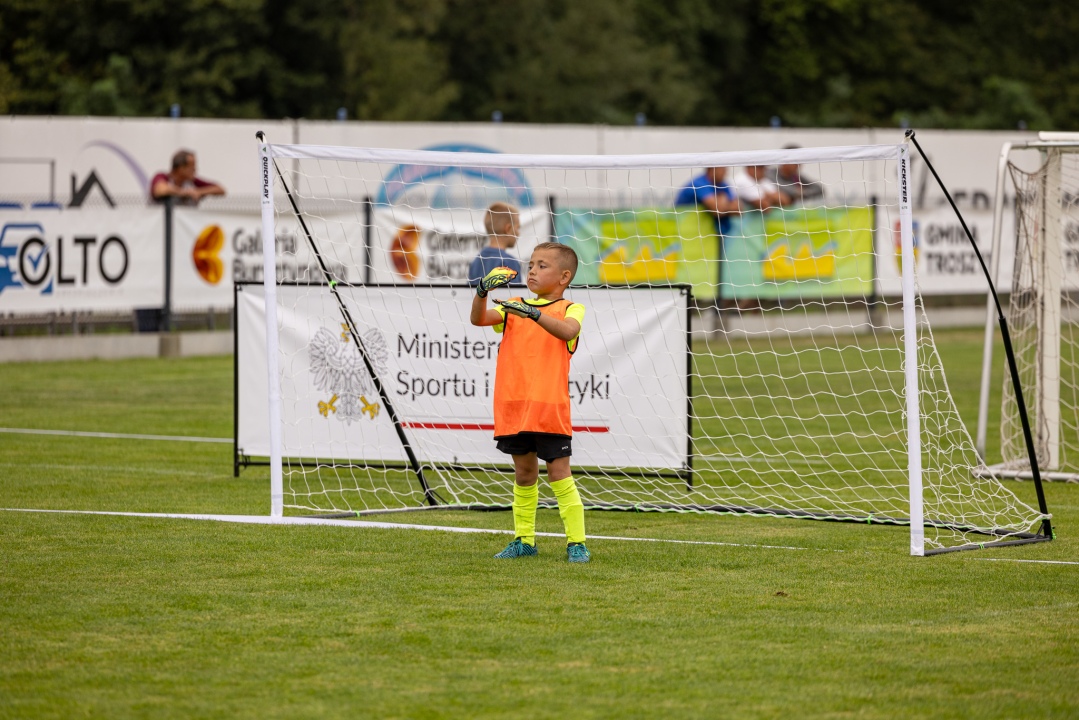
M 237 287 L 236 457 L 269 462 L 274 514 L 509 505 L 491 424 L 498 336 L 469 325 L 463 280 L 484 208 L 507 201 L 525 267 L 551 239 L 582 260 L 568 391 L 586 507 L 910 526 L 915 555 L 1046 539 L 1047 516 L 984 477 L 948 392 L 917 293 L 905 144 L 522 155 L 260 142 L 259 163 L 275 241 L 263 284 Z M 673 207 L 700 168 L 789 163 L 823 200 L 747 209 L 722 242 L 710 217 Z M 875 239 L 891 246 L 892 232 L 902 298 L 876 293 L 875 262 L 893 260 Z

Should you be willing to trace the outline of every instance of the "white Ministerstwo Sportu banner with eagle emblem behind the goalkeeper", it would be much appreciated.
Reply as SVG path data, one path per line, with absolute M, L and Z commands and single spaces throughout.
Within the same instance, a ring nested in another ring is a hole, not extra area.
M 421 460 L 507 464 L 493 440 L 502 336 L 468 322 L 473 290 L 338 287 L 387 397 L 328 288 L 278 287 L 284 457 L 405 462 L 388 400 Z M 268 457 L 263 290 L 237 290 L 237 447 Z M 684 470 L 687 293 L 573 288 L 569 299 L 587 310 L 568 388 L 574 464 Z

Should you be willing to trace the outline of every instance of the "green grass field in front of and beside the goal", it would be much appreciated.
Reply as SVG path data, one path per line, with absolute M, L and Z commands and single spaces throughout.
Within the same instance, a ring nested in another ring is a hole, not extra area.
M 938 342 L 973 427 L 981 332 Z M 0 378 L 5 427 L 232 433 L 231 357 Z M 0 507 L 269 514 L 231 451 L 0 433 Z M 1079 486 L 1047 494 L 1054 542 L 932 558 L 905 528 L 592 512 L 730 544 L 593 540 L 584 567 L 554 538 L 498 562 L 505 535 L 2 512 L 0 717 L 1077 717 L 1079 565 L 1026 561 L 1079 562 Z

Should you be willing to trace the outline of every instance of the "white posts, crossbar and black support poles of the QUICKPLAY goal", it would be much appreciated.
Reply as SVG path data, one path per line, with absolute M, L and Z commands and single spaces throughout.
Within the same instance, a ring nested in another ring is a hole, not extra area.
M 1048 538 L 1042 534 L 1038 534 L 1033 531 L 1024 531 L 1006 529 L 1007 525 L 975 525 L 971 527 L 969 525 L 955 525 L 948 524 L 946 520 L 940 519 L 927 519 L 926 510 L 924 506 L 925 494 L 927 488 L 926 483 L 926 468 L 923 467 L 923 458 L 926 452 L 931 452 L 931 449 L 924 449 L 923 447 L 923 394 L 919 388 L 919 371 L 921 366 L 919 365 L 919 354 L 926 352 L 926 348 L 919 345 L 919 332 L 920 328 L 926 327 L 926 318 L 924 316 L 924 310 L 920 308 L 918 293 L 917 293 L 917 279 L 916 279 L 916 255 L 915 255 L 915 242 L 913 232 L 913 215 L 912 215 L 912 202 L 911 202 L 911 191 L 910 191 L 910 147 L 906 142 L 901 142 L 898 145 L 886 145 L 886 146 L 855 146 L 855 147 L 842 147 L 842 148 L 801 148 L 794 150 L 771 150 L 771 151 L 745 151 L 745 152 L 711 152 L 711 153 L 680 153 L 680 154 L 654 154 L 654 155 L 527 155 L 527 154 L 497 154 L 497 153 L 472 153 L 472 152 L 436 152 L 436 151 L 415 151 L 415 150 L 393 150 L 393 149 L 372 149 L 372 148 L 343 148 L 343 147 L 328 147 L 328 146 L 297 146 L 297 145 L 272 145 L 264 140 L 259 134 L 260 141 L 258 145 L 258 162 L 261 181 L 261 207 L 262 207 L 262 236 L 263 239 L 274 239 L 275 234 L 275 209 L 274 209 L 274 189 L 275 189 L 275 178 L 284 185 L 284 190 L 288 195 L 288 202 L 291 203 L 292 208 L 296 210 L 297 217 L 301 225 L 303 225 L 302 214 L 300 213 L 296 201 L 292 198 L 292 193 L 288 188 L 288 181 L 286 174 L 282 174 L 279 171 L 275 172 L 275 165 L 277 160 L 295 160 L 295 161 L 316 161 L 316 162 L 327 162 L 327 163 L 370 163 L 373 165 L 409 165 L 409 164 L 437 164 L 446 167 L 490 167 L 490 168 L 559 168 L 559 169 L 574 169 L 579 168 L 584 171 L 603 168 L 603 169 L 627 169 L 634 171 L 639 168 L 663 168 L 663 169 L 695 169 L 700 167 L 712 167 L 712 166 L 726 166 L 726 167 L 748 167 L 748 166 L 760 166 L 760 165 L 778 165 L 787 163 L 797 163 L 797 164 L 811 164 L 811 163 L 841 163 L 841 162 L 882 162 L 885 164 L 892 164 L 894 167 L 893 178 L 889 177 L 887 181 L 889 184 L 894 182 L 893 189 L 896 192 L 896 198 L 891 201 L 890 207 L 897 213 L 894 219 L 897 220 L 897 234 L 900 244 L 901 254 L 901 276 L 902 276 L 902 376 L 903 376 L 903 393 L 902 397 L 904 399 L 905 407 L 903 411 L 900 412 L 898 409 L 894 412 L 894 417 L 902 416 L 899 421 L 902 424 L 898 425 L 905 430 L 906 446 L 906 506 L 909 510 L 909 516 L 906 518 L 894 518 L 894 517 L 884 517 L 876 515 L 876 511 L 871 512 L 869 518 L 864 517 L 850 517 L 844 515 L 842 512 L 834 515 L 819 515 L 814 512 L 806 512 L 804 510 L 786 510 L 786 508 L 768 508 L 768 507 L 734 507 L 726 510 L 715 510 L 710 507 L 691 507 L 689 510 L 704 510 L 715 511 L 715 512 L 738 512 L 740 514 L 749 515 L 763 515 L 763 516 L 788 516 L 788 517 L 811 517 L 817 519 L 831 519 L 831 520 L 844 520 L 844 521 L 868 521 L 870 524 L 885 524 L 885 525 L 909 525 L 910 526 L 910 553 L 914 556 L 923 556 L 929 554 L 937 554 L 942 552 L 951 552 L 955 549 L 969 549 L 975 547 L 984 547 L 988 545 L 1006 545 L 1006 544 L 1021 544 L 1027 542 L 1041 542 L 1048 540 Z M 279 200 L 279 198 L 278 198 Z M 874 230 L 876 231 L 876 230 Z M 304 227 L 304 232 L 306 233 L 306 228 Z M 314 245 L 314 241 L 311 239 L 310 233 L 308 233 L 308 240 Z M 270 440 L 270 453 L 269 453 L 269 466 L 270 466 L 270 480 L 271 480 L 271 515 L 273 517 L 281 517 L 284 515 L 284 459 L 282 452 L 282 375 L 281 368 L 278 367 L 278 356 L 281 353 L 278 347 L 278 316 L 276 311 L 276 297 L 277 297 L 277 258 L 276 258 L 276 243 L 275 242 L 263 242 L 263 296 L 265 299 L 265 352 L 267 352 L 267 391 L 268 391 L 268 402 L 269 411 L 267 415 L 269 421 L 269 440 Z M 317 250 L 315 250 L 317 255 Z M 319 258 L 319 263 L 322 259 Z M 323 266 L 324 272 L 326 271 L 325 264 Z M 329 279 L 327 275 L 326 286 L 331 293 L 336 295 L 333 290 L 337 282 Z M 339 300 L 340 302 L 340 300 Z M 342 304 L 342 311 L 344 307 Z M 358 335 L 356 334 L 355 326 L 352 318 L 345 315 L 343 320 L 346 323 L 342 324 L 342 327 L 346 329 L 346 332 L 352 332 L 352 341 L 357 351 L 364 355 L 364 361 L 367 363 L 368 371 L 374 379 L 375 384 L 379 384 L 379 379 L 375 370 L 373 369 L 370 362 L 367 358 L 367 351 L 364 350 L 364 344 L 360 341 Z M 870 323 L 873 320 L 870 318 Z M 345 339 L 347 341 L 347 338 Z M 931 344 L 931 337 L 930 337 Z M 935 355 L 935 348 L 930 347 L 929 352 Z M 939 362 L 939 358 L 931 358 Z M 932 368 L 931 368 L 932 369 Z M 900 397 L 898 393 L 898 388 L 900 383 L 897 383 L 896 397 Z M 380 390 L 381 392 L 381 390 Z M 943 382 L 940 388 L 937 389 L 939 394 L 939 403 L 947 405 L 954 411 L 954 404 L 951 400 L 951 395 L 947 392 L 946 382 Z M 397 424 L 397 418 L 394 417 L 394 410 L 386 403 L 386 409 L 392 418 L 393 422 Z M 954 413 L 953 413 L 954 415 Z M 931 417 L 931 412 L 927 412 L 927 418 Z M 929 425 L 927 425 L 929 427 Z M 932 432 L 927 430 L 925 432 Z M 970 454 L 973 456 L 972 444 L 969 439 L 969 434 L 965 429 L 959 429 L 962 437 L 966 438 L 962 443 L 964 448 L 970 448 Z M 412 451 L 409 449 L 409 443 L 405 439 L 404 434 L 400 432 L 398 426 L 398 435 L 401 438 L 401 443 L 405 450 L 408 452 L 409 458 L 412 460 L 412 466 L 415 468 L 418 475 L 420 475 L 421 481 L 423 480 L 420 471 L 421 465 L 416 463 L 415 458 L 412 456 Z M 928 447 L 928 444 L 927 444 Z M 898 457 L 902 457 L 897 453 Z M 976 460 L 972 461 L 974 465 L 962 465 L 962 467 L 970 468 L 972 476 L 976 476 L 984 465 L 976 463 Z M 975 466 L 980 465 L 980 466 Z M 902 471 L 901 465 L 897 465 L 893 470 Z M 930 476 L 933 476 L 935 468 L 930 468 Z M 966 471 L 965 471 L 966 472 Z M 897 478 L 898 479 L 898 478 Z M 893 481 L 888 485 L 890 489 L 902 490 L 902 485 L 900 481 Z M 937 487 L 934 484 L 933 488 Z M 426 485 L 424 485 L 426 491 Z M 1003 492 L 1011 495 L 1007 490 Z M 428 495 L 429 500 L 429 495 Z M 899 494 L 897 500 L 902 502 L 904 499 L 902 494 Z M 586 503 L 587 505 L 587 503 Z M 442 507 L 455 507 L 465 505 L 441 505 Z M 468 505 L 469 507 L 472 505 Z M 593 507 L 601 507 L 602 505 L 592 505 Z M 901 507 L 902 505 L 900 505 Z M 979 508 L 984 507 L 983 505 L 978 505 Z M 416 507 L 415 510 L 420 510 Z M 612 507 L 612 510 L 669 510 L 666 507 L 653 506 L 653 507 L 629 507 L 629 506 L 618 506 Z M 386 511 L 373 511 L 373 512 L 386 512 Z M 394 511 L 390 511 L 394 512 Z M 350 513 L 350 515 L 357 515 L 358 512 Z M 961 514 L 959 515 L 961 517 Z M 1048 517 L 1048 516 L 1041 516 Z M 1024 517 L 1024 522 L 1027 518 Z M 927 549 L 927 539 L 926 529 L 927 527 L 933 528 L 944 528 L 947 530 L 956 530 L 960 533 L 974 532 L 988 534 L 989 538 L 985 542 L 968 542 L 961 546 L 952 547 L 937 547 L 933 546 Z

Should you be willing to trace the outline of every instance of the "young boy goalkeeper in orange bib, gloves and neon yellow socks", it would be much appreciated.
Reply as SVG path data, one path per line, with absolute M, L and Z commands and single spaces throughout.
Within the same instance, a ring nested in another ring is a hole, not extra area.
M 502 332 L 494 375 L 494 439 L 514 458 L 514 542 L 495 557 L 536 555 L 536 505 L 540 460 L 547 463 L 558 512 L 565 526 L 566 558 L 588 562 L 585 506 L 570 471 L 570 357 L 577 349 L 584 305 L 562 297 L 577 272 L 577 254 L 559 243 L 536 245 L 529 260 L 528 288 L 535 298 L 495 300 L 487 294 L 507 285 L 517 273 L 495 268 L 476 286 L 472 324 Z

